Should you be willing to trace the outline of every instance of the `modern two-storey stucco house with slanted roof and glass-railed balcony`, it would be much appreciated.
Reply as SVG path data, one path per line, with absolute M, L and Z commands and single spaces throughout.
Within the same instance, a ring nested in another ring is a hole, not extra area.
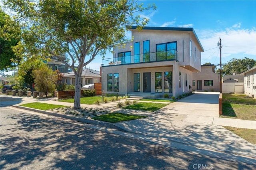
M 103 59 L 102 91 L 118 95 L 177 97 L 190 91 L 192 73 L 201 71 L 204 51 L 193 28 L 136 27 L 133 42 L 114 47 Z

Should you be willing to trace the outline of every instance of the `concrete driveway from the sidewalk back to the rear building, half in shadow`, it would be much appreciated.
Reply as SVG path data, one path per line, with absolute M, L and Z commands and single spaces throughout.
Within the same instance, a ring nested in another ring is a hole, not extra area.
M 195 92 L 194 95 L 180 99 L 158 110 L 160 113 L 175 113 L 198 115 L 204 117 L 219 117 L 219 92 Z

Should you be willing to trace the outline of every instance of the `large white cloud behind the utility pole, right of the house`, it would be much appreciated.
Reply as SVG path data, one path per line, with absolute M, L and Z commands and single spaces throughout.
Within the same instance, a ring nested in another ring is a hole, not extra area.
M 226 28 L 225 30 L 196 30 L 196 34 L 205 50 L 201 54 L 202 63 L 210 60 L 212 63 L 219 63 L 220 54 L 217 47 L 219 38 L 222 40 L 222 57 L 224 61 L 227 62 L 238 56 L 240 58 L 249 56 L 256 59 L 256 28 L 239 29 L 240 23 L 234 26 L 235 28 Z

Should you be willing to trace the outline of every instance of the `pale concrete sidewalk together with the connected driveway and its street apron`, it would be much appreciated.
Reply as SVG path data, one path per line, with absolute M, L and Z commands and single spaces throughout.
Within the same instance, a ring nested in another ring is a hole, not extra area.
M 196 93 L 177 102 L 171 103 L 156 112 L 135 111 L 117 108 L 116 102 L 100 105 L 83 105 L 83 108 L 97 108 L 118 111 L 121 113 L 146 115 L 147 118 L 114 123 L 140 138 L 151 138 L 151 142 L 158 142 L 168 146 L 181 147 L 181 144 L 195 146 L 207 150 L 242 155 L 245 158 L 256 159 L 256 145 L 240 138 L 222 126 L 256 129 L 256 121 L 219 118 L 218 93 Z M 1 98 L 3 98 L 1 96 Z M 42 102 L 58 105 L 73 106 L 73 103 L 58 102 L 54 99 L 20 99 L 16 105 Z M 1 100 L 1 105 L 5 101 Z M 184 145 L 182 146 L 184 147 Z

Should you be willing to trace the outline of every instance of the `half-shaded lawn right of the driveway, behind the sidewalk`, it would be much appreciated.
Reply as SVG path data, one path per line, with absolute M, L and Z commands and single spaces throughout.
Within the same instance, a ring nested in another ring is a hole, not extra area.
M 221 117 L 256 121 L 256 99 L 246 95 L 222 94 Z

